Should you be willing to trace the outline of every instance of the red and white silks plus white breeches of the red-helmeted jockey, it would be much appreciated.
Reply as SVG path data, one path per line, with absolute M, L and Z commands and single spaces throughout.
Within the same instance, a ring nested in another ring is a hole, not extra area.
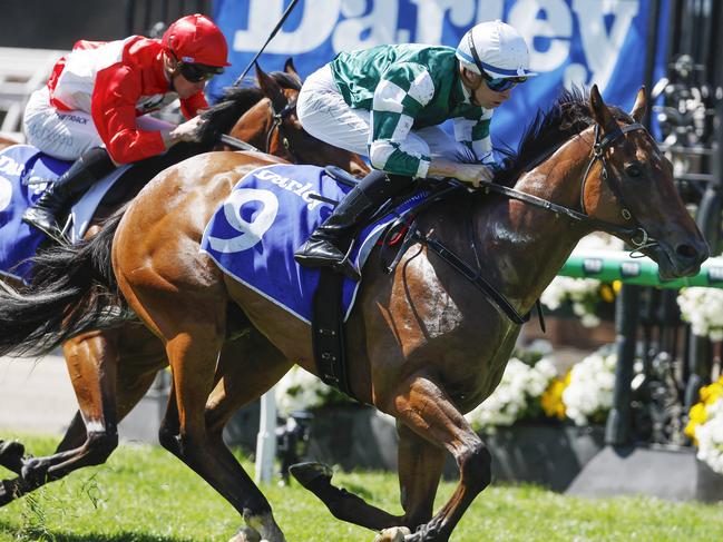
M 58 61 L 48 85 L 30 98 L 25 115 L 28 141 L 66 160 L 101 145 L 117 164 L 164 152 L 160 130 L 174 126 L 145 116 L 178 98 L 163 55 L 159 40 L 141 36 L 107 43 L 78 41 Z M 203 89 L 180 104 L 186 119 L 207 107 Z

